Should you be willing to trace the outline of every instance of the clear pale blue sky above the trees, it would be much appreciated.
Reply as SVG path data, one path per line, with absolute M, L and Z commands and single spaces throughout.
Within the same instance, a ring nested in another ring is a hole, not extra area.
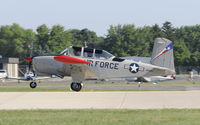
M 88 28 L 105 36 L 110 25 L 174 27 L 200 24 L 200 0 L 0 0 L 0 26 L 25 29 L 46 24 L 65 29 Z

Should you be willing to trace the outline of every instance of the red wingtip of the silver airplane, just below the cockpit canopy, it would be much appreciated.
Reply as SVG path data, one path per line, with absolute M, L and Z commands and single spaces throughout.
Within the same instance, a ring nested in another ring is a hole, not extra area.
M 75 57 L 70 57 L 70 56 L 54 56 L 54 60 L 63 62 L 63 63 L 69 63 L 69 64 L 90 64 L 91 62 L 75 58 Z

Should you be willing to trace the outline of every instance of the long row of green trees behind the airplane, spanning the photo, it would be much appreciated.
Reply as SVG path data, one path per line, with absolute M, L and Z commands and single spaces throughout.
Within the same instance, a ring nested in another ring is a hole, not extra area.
M 162 26 L 136 27 L 134 24 L 111 25 L 104 37 L 97 36 L 87 28 L 65 29 L 45 24 L 36 31 L 24 29 L 18 24 L 0 27 L 0 55 L 3 57 L 29 56 L 31 41 L 34 41 L 34 55 L 58 54 L 67 46 L 84 46 L 105 49 L 115 56 L 149 56 L 151 57 L 155 38 L 164 37 L 174 43 L 175 65 L 191 66 L 200 70 L 200 25 L 174 27 L 171 22 Z

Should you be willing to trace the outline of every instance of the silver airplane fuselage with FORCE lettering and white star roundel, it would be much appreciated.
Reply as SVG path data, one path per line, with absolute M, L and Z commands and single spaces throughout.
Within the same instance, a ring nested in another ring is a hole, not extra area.
M 149 72 L 151 72 L 152 76 L 165 76 L 172 74 L 170 70 L 166 72 L 155 72 L 153 69 L 157 68 L 157 66 L 132 60 L 123 60 L 120 62 L 113 61 L 114 57 L 110 59 L 95 59 L 84 57 L 76 58 L 90 62 L 90 64 L 76 64 L 76 66 L 84 65 L 84 67 L 86 67 L 86 70 L 90 73 L 88 75 L 90 76 L 89 78 L 91 78 L 91 76 L 97 76 L 98 78 L 140 77 L 148 76 Z M 35 72 L 48 75 L 71 76 L 71 72 L 74 70 L 74 64 L 67 64 L 56 61 L 54 60 L 54 56 L 34 57 L 32 64 Z

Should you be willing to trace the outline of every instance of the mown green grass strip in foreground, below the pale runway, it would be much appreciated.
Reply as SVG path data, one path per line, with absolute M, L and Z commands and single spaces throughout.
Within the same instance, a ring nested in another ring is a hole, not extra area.
M 0 110 L 0 125 L 199 125 L 200 109 Z

